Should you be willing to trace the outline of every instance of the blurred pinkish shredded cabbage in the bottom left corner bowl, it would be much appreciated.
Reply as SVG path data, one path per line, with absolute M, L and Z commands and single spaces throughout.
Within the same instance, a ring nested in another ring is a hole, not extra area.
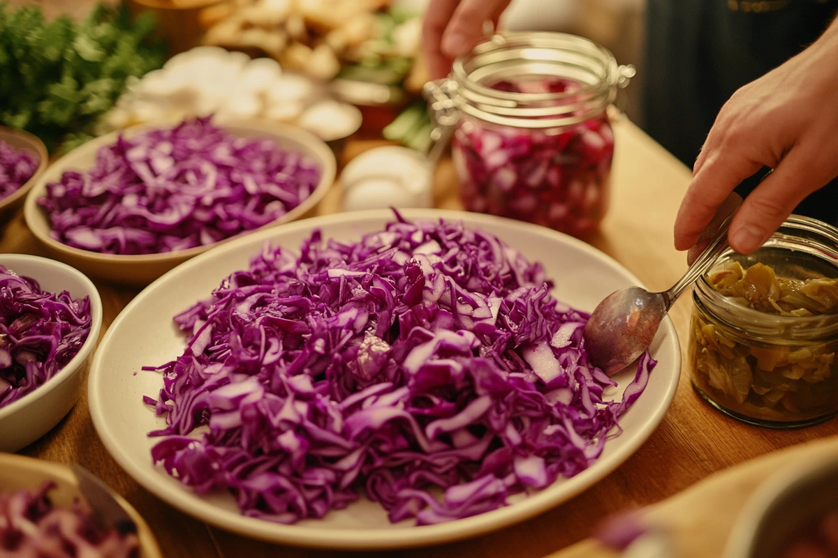
M 81 504 L 55 506 L 44 483 L 37 492 L 0 493 L 0 555 L 8 558 L 137 558 L 132 533 L 101 530 Z

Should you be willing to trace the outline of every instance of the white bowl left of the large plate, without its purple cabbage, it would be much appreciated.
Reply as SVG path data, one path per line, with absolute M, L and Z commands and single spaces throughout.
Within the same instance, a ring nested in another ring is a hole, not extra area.
M 74 299 L 91 298 L 91 332 L 67 366 L 44 385 L 0 407 L 0 452 L 16 452 L 48 433 L 79 399 L 85 364 L 99 340 L 102 302 L 96 286 L 79 270 L 53 259 L 19 253 L 0 253 L 0 265 L 31 277 L 50 293 L 68 291 Z

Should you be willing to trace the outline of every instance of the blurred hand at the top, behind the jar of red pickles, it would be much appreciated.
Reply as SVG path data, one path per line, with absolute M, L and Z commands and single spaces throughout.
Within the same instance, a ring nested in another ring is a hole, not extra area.
M 453 59 L 477 44 L 485 22 L 497 27 L 510 1 L 431 0 L 422 26 L 422 49 L 431 79 L 444 78 Z

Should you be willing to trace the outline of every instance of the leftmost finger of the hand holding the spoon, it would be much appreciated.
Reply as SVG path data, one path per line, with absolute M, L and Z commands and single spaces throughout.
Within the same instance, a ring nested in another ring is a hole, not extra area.
M 716 149 L 708 154 L 687 188 L 675 218 L 675 248 L 686 250 L 695 245 L 733 189 L 762 166 L 730 149 Z

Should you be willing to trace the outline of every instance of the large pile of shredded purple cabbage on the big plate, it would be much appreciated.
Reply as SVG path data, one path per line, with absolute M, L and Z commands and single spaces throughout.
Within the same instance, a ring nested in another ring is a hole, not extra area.
M 299 257 L 266 246 L 175 316 L 184 354 L 146 368 L 163 371 L 144 399 L 168 423 L 153 461 L 286 524 L 361 490 L 393 522 L 435 524 L 572 477 L 655 361 L 608 401 L 587 314 L 550 289 L 540 264 L 462 223 L 399 217 L 349 244 L 314 233 Z

